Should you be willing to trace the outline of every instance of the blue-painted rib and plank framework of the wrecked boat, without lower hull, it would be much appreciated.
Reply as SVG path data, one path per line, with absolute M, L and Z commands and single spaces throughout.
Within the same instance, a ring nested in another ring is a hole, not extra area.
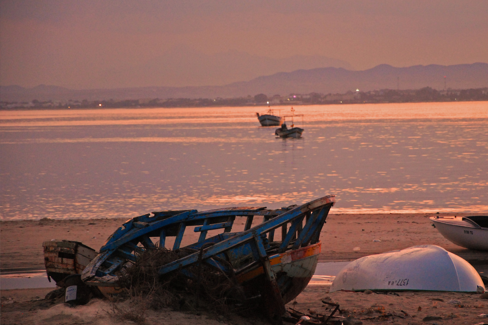
M 123 255 L 120 254 L 120 251 L 121 247 L 124 245 L 127 246 L 133 244 L 135 246 L 135 240 L 142 243 L 144 248 L 148 249 L 152 248 L 150 245 L 152 242 L 149 243 L 148 236 L 159 235 L 161 242 L 164 242 L 168 233 L 171 233 L 169 236 L 176 236 L 173 249 L 178 249 L 186 227 L 202 225 L 201 227 L 194 229 L 197 232 L 201 231 L 202 235 L 203 232 L 206 232 L 208 229 L 213 229 L 214 227 L 224 228 L 224 232 L 227 232 L 230 231 L 230 227 L 232 227 L 233 224 L 232 221 L 234 221 L 236 215 L 247 216 L 248 221 L 252 220 L 254 215 L 263 215 L 264 218 L 262 224 L 251 229 L 252 226 L 250 222 L 247 222 L 248 225 L 246 225 L 247 227 L 243 232 L 234 234 L 229 233 L 229 236 L 217 240 L 214 246 L 203 249 L 203 256 L 201 258 L 205 260 L 207 264 L 214 265 L 223 270 L 224 273 L 227 273 L 227 271 L 230 272 L 230 270 L 227 270 L 228 266 L 220 263 L 219 260 L 215 260 L 214 257 L 224 258 L 224 252 L 226 254 L 235 253 L 235 255 L 237 255 L 235 260 L 239 263 L 235 262 L 234 259 L 230 260 L 234 261 L 235 263 L 233 266 L 238 268 L 243 268 L 245 267 L 245 264 L 248 263 L 258 263 L 264 258 L 266 249 L 269 249 L 269 242 L 273 241 L 273 234 L 276 228 L 282 227 L 285 232 L 285 238 L 278 250 L 279 253 L 291 249 L 289 244 L 291 241 L 295 241 L 297 237 L 298 240 L 294 242 L 296 245 L 295 250 L 299 249 L 300 246 L 307 246 L 308 243 L 314 244 L 318 241 L 317 234 L 325 222 L 328 210 L 334 203 L 334 196 L 330 195 L 308 202 L 300 207 L 295 205 L 294 207 L 290 206 L 281 210 L 263 210 L 265 208 L 261 207 L 250 209 L 248 207 L 226 208 L 202 212 L 186 210 L 180 214 L 175 213 L 171 216 L 164 216 L 164 219 L 158 219 L 158 216 L 156 215 L 150 217 L 148 214 L 145 214 L 130 219 L 128 222 L 124 223 L 121 228 L 117 229 L 102 247 L 101 254 L 99 254 L 87 268 L 85 268 L 81 278 L 83 281 L 93 281 L 93 277 L 95 277 L 98 279 L 97 281 L 103 283 L 115 281 L 114 279 L 116 279 L 117 276 L 112 273 L 118 265 L 121 264 L 114 263 L 116 262 L 115 259 L 124 258 L 132 260 L 128 256 L 130 255 L 130 257 L 134 257 L 131 254 L 131 250 L 128 252 L 124 251 Z M 306 225 L 305 228 L 302 229 L 302 222 L 305 217 Z M 224 222 L 225 220 L 226 222 Z M 288 231 L 286 231 L 286 224 L 288 223 L 291 223 L 291 226 Z M 267 233 L 269 233 L 269 236 L 268 238 L 265 238 Z M 224 236 L 224 234 L 220 234 L 219 236 Z M 209 240 L 210 242 L 213 242 L 213 239 Z M 148 242 L 146 243 L 146 241 Z M 201 240 L 193 246 L 195 246 L 195 249 L 200 249 L 203 247 L 202 245 L 207 244 L 206 242 L 207 240 L 204 239 L 204 236 L 201 236 Z M 198 253 L 190 254 L 178 261 L 169 263 L 160 269 L 160 274 L 165 274 L 171 270 L 182 268 L 185 265 L 197 263 L 199 260 L 198 255 Z M 106 264 L 105 262 L 110 262 L 110 264 L 115 265 L 115 267 L 108 267 L 109 264 Z M 102 266 L 103 263 L 105 264 Z M 106 275 L 96 276 L 97 271 L 101 271 Z M 268 275 L 271 279 L 271 274 Z

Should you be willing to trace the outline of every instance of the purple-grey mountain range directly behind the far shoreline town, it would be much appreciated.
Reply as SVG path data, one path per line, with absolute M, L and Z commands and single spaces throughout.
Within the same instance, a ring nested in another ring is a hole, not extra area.
M 446 77 L 445 77 L 446 76 Z M 488 87 L 488 63 L 395 68 L 387 64 L 364 71 L 344 68 L 316 68 L 260 76 L 250 81 L 224 86 L 138 87 L 73 90 L 59 86 L 39 85 L 34 88 L 0 86 L 1 101 L 45 100 L 121 100 L 140 98 L 231 98 L 264 93 L 268 96 L 291 93 L 346 93 L 380 89 L 420 89 L 432 87 L 469 89 Z M 398 83 L 398 84 L 397 84 Z

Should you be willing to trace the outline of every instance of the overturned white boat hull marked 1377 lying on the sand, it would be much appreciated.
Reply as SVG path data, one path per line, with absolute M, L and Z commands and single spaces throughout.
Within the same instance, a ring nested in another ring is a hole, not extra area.
M 435 245 L 369 255 L 337 274 L 330 292 L 338 290 L 433 290 L 477 292 L 478 272 L 461 257 Z

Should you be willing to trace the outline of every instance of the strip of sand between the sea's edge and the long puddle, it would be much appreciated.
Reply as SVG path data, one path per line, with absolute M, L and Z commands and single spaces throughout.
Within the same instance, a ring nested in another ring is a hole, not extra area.
M 450 214 L 329 214 L 322 229 L 320 261 L 347 261 L 405 249 L 414 245 L 438 245 L 466 260 L 488 259 L 488 253 L 454 245 L 431 226 L 430 216 Z M 468 214 L 457 214 L 466 216 Z M 473 215 L 473 214 L 470 214 Z M 108 236 L 127 219 L 70 219 L 0 221 L 1 271 L 44 269 L 42 242 L 75 240 L 100 249 Z M 261 220 L 255 220 L 256 222 Z M 235 229 L 244 229 L 244 219 L 236 218 Z M 191 230 L 191 229 L 190 229 Z M 209 232 L 210 233 L 210 232 Z M 198 240 L 198 233 L 185 232 L 182 246 Z M 381 242 L 373 242 L 381 240 Z M 171 247 L 168 238 L 166 247 Z M 353 249 L 359 247 L 359 251 Z

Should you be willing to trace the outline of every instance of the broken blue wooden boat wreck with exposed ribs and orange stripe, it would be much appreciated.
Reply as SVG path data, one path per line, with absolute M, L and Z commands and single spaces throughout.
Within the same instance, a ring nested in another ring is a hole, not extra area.
M 189 278 L 189 269 L 200 263 L 237 279 L 246 296 L 261 296 L 268 315 L 277 319 L 285 304 L 293 300 L 310 281 L 321 249 L 320 232 L 335 196 L 328 195 L 301 206 L 279 210 L 265 207 L 236 207 L 218 210 L 157 211 L 132 218 L 117 229 L 100 249 L 100 254 L 83 270 L 85 284 L 97 286 L 105 295 L 120 292 L 119 276 L 149 249 L 163 248 L 174 236 L 172 249 L 190 253 L 159 268 L 162 279 L 172 272 Z M 252 227 L 255 216 L 263 222 Z M 236 217 L 246 217 L 244 231 L 231 232 Z M 200 232 L 196 243 L 181 248 L 188 227 Z M 207 232 L 223 232 L 206 238 Z M 275 232 L 278 230 L 275 240 Z M 280 231 L 281 230 L 281 231 Z

